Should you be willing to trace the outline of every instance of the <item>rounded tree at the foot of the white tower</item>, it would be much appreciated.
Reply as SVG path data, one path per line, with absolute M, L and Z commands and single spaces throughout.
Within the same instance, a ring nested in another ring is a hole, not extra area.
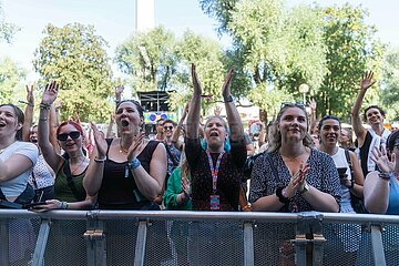
M 135 91 L 165 91 L 176 71 L 174 45 L 174 34 L 157 27 L 122 43 L 116 49 L 115 61 L 132 78 Z

